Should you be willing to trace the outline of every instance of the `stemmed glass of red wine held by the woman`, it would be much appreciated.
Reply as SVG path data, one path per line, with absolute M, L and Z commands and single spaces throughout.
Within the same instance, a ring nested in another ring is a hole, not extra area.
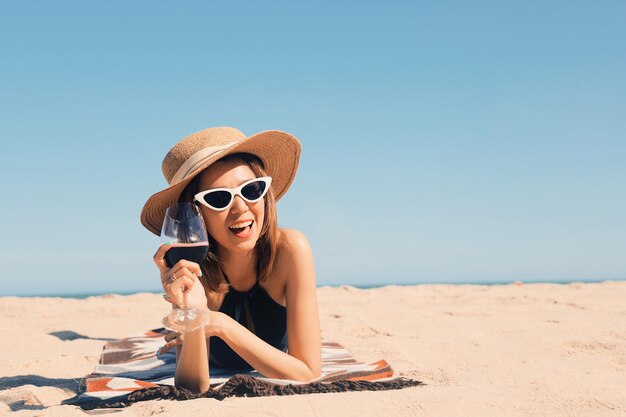
M 209 239 L 198 207 L 192 203 L 175 203 L 168 207 L 161 228 L 161 241 L 170 245 L 165 252 L 165 263 L 169 268 L 181 259 L 201 263 L 209 251 Z M 191 332 L 209 323 L 206 310 L 187 306 L 186 291 L 182 304 L 163 317 L 166 329 Z

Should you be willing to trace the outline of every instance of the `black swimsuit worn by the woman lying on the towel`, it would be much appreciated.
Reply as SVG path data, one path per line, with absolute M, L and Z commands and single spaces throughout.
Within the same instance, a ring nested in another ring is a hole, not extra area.
M 287 308 L 278 304 L 259 285 L 247 292 L 234 289 L 224 296 L 220 311 L 247 327 L 252 333 L 283 352 L 287 351 Z M 249 371 L 253 368 L 219 337 L 210 339 L 209 365 L 222 369 Z

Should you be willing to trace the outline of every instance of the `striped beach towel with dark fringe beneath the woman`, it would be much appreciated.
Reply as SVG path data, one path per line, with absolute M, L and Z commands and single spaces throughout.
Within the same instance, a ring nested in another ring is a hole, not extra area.
M 422 385 L 422 382 L 394 377 L 385 360 L 357 362 L 338 343 L 322 340 L 322 375 L 309 382 L 265 378 L 256 371 L 234 373 L 211 367 L 211 388 L 195 394 L 174 386 L 176 349 L 163 354 L 165 329 L 154 329 L 132 337 L 107 342 L 100 362 L 80 384 L 77 396 L 64 404 L 84 410 L 119 408 L 154 399 L 224 399 L 237 396 L 292 395 L 342 391 L 380 391 Z

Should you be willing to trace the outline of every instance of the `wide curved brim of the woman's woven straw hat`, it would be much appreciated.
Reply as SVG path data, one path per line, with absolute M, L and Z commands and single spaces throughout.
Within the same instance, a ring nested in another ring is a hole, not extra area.
M 285 195 L 296 177 L 298 165 L 300 164 L 300 142 L 289 133 L 279 130 L 267 130 L 236 142 L 225 152 L 199 165 L 183 181 L 153 194 L 148 198 L 141 210 L 141 224 L 159 236 L 167 207 L 178 200 L 180 193 L 182 193 L 187 184 L 213 163 L 226 155 L 238 152 L 258 156 L 263 161 L 267 175 L 272 177 L 271 187 L 275 200 L 278 201 Z

